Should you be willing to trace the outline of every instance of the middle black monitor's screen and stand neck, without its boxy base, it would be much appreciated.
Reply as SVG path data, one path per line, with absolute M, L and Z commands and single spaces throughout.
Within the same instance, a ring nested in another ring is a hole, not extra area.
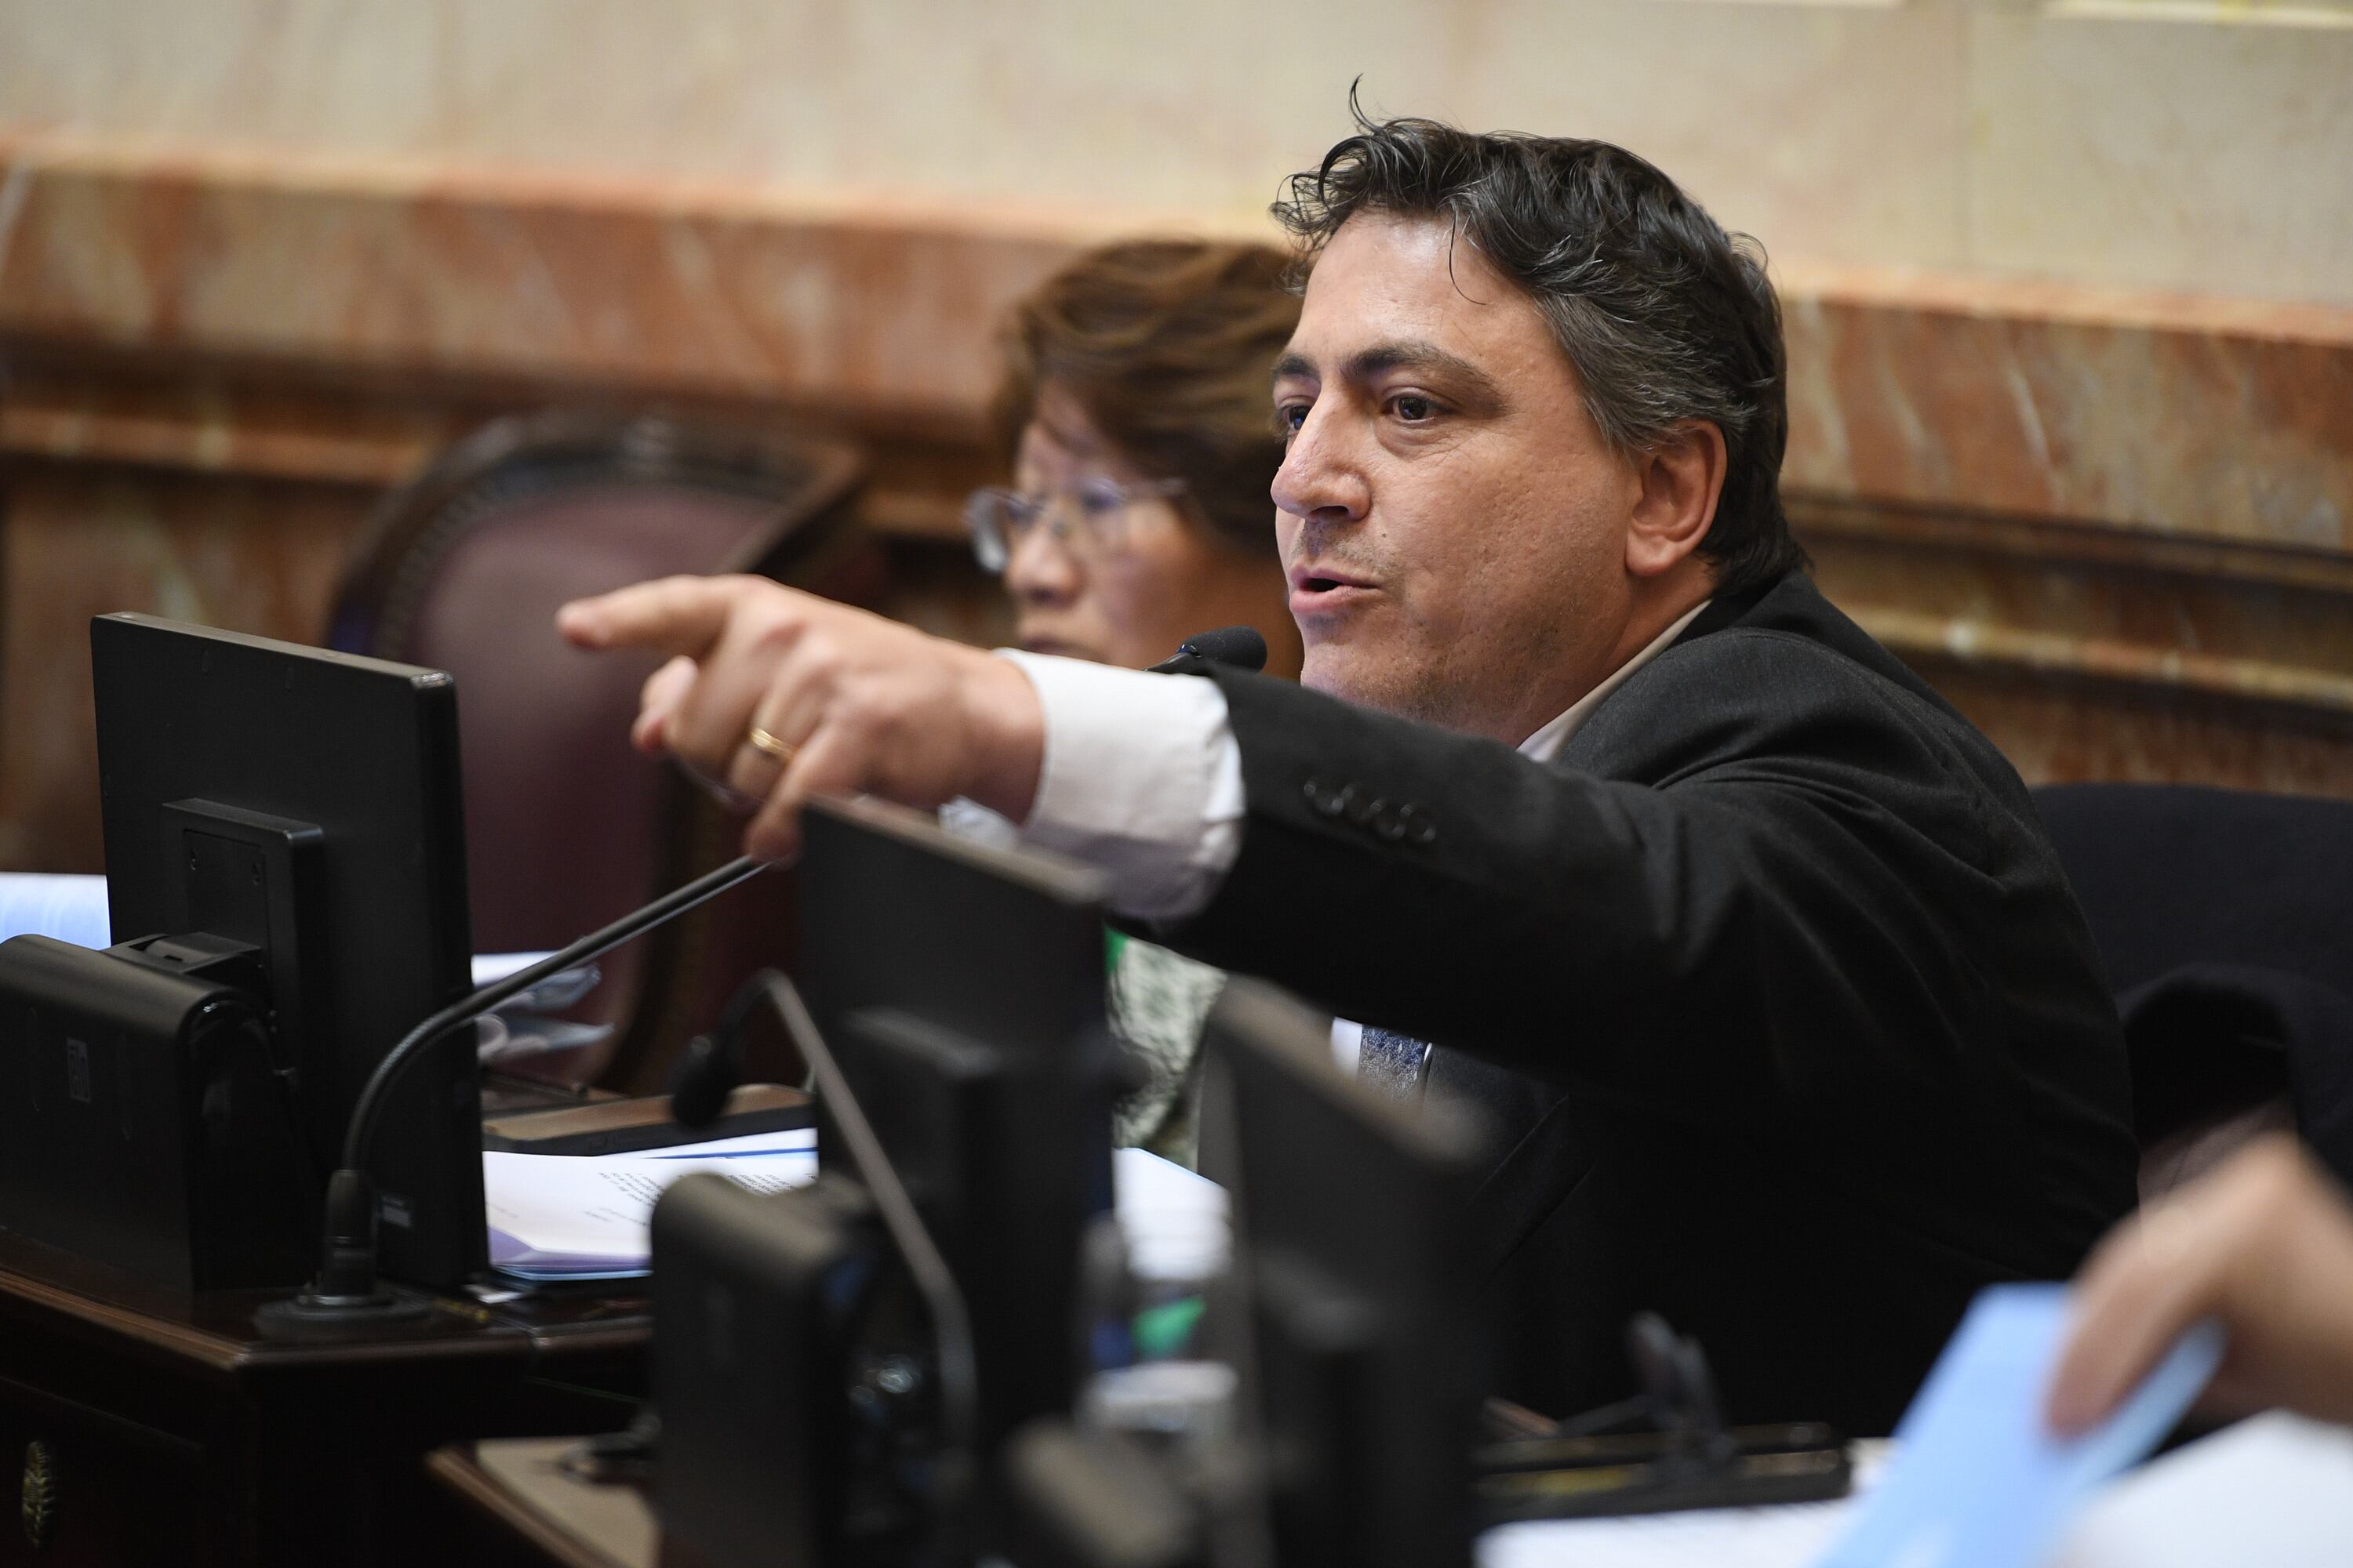
M 880 802 L 802 818 L 800 987 L 972 1309 L 981 1443 L 1068 1408 L 1111 1206 L 1101 872 Z M 845 1168 L 819 1133 L 819 1159 Z

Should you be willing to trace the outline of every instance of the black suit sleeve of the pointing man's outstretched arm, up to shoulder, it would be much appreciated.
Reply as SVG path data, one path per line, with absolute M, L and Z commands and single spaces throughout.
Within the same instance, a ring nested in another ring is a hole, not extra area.
M 1835 658 L 1737 635 L 1664 656 L 1577 743 L 1652 783 L 1217 682 L 1247 811 L 1217 896 L 1162 926 L 1195 957 L 1701 1119 L 1967 1051 L 1984 985 L 1955 931 L 2009 867 L 1934 726 Z

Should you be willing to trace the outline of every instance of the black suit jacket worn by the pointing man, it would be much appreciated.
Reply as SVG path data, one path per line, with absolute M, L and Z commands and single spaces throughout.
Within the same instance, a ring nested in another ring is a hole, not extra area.
M 1885 1432 L 1969 1295 L 2134 1201 L 2115 1006 L 2026 788 L 1802 574 L 1711 604 L 1539 766 L 1214 672 L 1240 856 L 1165 940 L 1433 1041 L 1492 1171 L 1499 1389 Z

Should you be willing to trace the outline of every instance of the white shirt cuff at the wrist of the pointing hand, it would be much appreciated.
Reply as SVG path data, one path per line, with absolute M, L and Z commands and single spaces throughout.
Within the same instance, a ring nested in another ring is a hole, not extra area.
M 1195 675 L 998 656 L 1028 675 L 1045 708 L 1021 839 L 1106 870 L 1122 914 L 1198 914 L 1242 846 L 1242 748 L 1226 693 Z

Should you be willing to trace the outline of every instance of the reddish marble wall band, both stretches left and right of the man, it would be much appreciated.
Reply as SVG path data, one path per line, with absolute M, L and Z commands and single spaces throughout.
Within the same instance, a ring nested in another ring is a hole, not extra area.
M 751 190 L 325 181 L 0 143 L 0 336 L 758 397 L 969 442 L 1075 228 Z M 1788 484 L 2353 543 L 2353 310 L 1781 270 Z

